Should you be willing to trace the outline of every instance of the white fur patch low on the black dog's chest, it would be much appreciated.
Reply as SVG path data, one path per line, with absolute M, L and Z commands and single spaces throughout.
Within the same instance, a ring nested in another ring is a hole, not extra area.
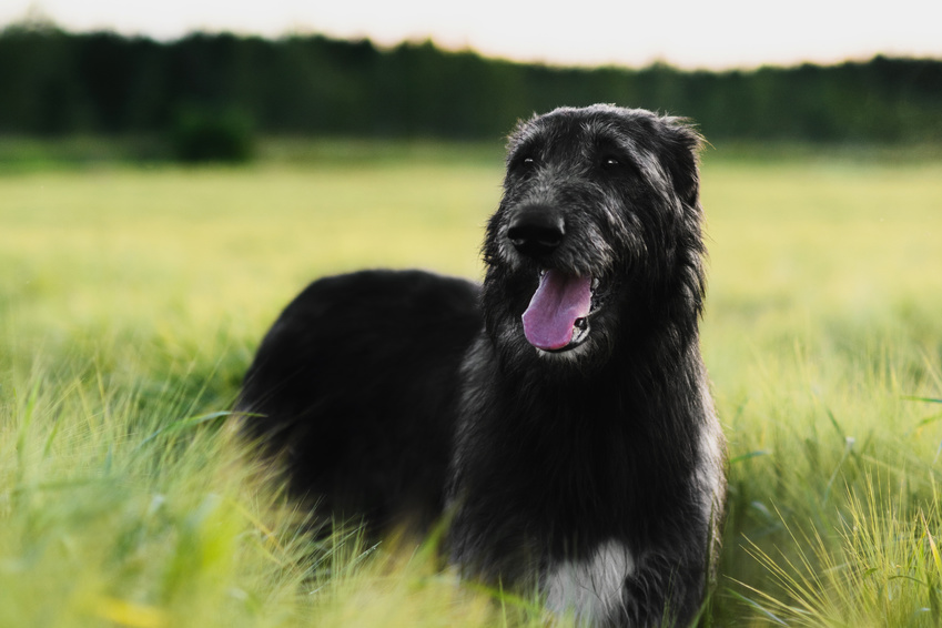
M 622 585 L 634 570 L 628 548 L 606 541 L 591 556 L 550 569 L 543 581 L 546 605 L 559 615 L 574 615 L 580 626 L 605 622 L 621 607 Z

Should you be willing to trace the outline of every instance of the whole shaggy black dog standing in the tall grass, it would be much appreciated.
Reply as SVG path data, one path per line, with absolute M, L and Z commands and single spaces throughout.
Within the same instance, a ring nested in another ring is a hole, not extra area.
M 313 283 L 245 377 L 250 428 L 335 513 L 427 524 L 446 508 L 468 575 L 536 586 L 584 624 L 689 622 L 726 486 L 698 346 L 698 149 L 642 110 L 521 123 L 483 288 L 391 271 Z

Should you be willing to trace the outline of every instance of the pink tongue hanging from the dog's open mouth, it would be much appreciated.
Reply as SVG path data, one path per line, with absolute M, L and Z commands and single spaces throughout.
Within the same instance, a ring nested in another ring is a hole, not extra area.
M 524 335 L 537 348 L 563 348 L 573 340 L 576 318 L 588 316 L 592 303 L 591 275 L 547 271 L 524 312 Z

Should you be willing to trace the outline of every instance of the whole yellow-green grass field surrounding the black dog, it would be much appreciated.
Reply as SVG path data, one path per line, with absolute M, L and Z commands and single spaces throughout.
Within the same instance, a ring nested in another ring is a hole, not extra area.
M 0 173 L 0 626 L 546 619 L 429 547 L 314 540 L 225 429 L 310 278 L 479 275 L 499 148 L 337 152 Z M 942 160 L 711 150 L 703 203 L 712 624 L 942 624 Z

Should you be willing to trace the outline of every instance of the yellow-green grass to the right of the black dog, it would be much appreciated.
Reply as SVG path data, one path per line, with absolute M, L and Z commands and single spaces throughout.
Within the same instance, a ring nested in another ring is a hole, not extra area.
M 942 168 L 708 155 L 703 176 L 722 587 L 788 625 L 938 625 Z

